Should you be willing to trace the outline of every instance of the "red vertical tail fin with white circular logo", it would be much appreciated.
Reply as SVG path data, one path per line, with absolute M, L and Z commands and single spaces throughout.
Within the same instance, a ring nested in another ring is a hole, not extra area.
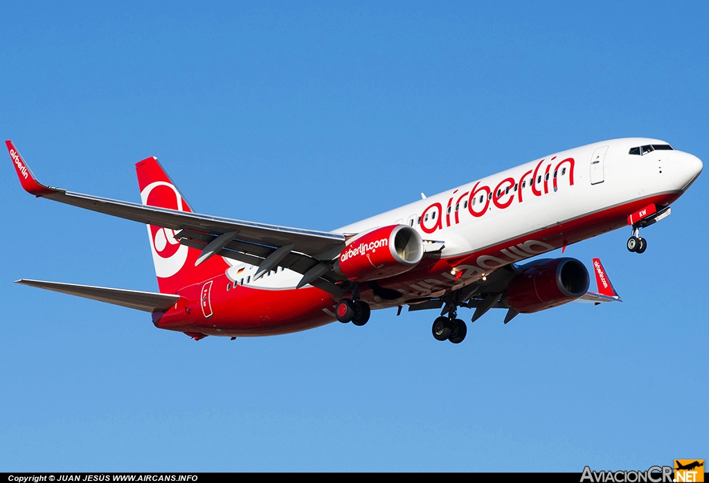
M 144 205 L 193 212 L 157 159 L 150 157 L 136 163 L 135 172 L 138 174 L 140 198 Z M 175 293 L 187 285 L 224 273 L 229 267 L 220 256 L 213 256 L 201 265 L 194 266 L 200 251 L 179 244 L 174 239 L 173 229 L 147 225 L 147 232 L 157 285 L 162 293 Z

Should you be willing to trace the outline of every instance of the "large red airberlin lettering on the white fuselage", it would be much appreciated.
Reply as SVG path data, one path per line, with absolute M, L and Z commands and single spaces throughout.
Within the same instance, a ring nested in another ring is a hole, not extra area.
M 496 208 L 501 210 L 512 205 L 515 199 L 517 203 L 524 203 L 525 198 L 523 192 L 525 189 L 523 189 L 523 186 L 525 188 L 527 187 L 527 177 L 530 175 L 532 175 L 529 178 L 531 181 L 529 183 L 530 195 L 541 196 L 542 194 L 549 193 L 549 181 L 552 181 L 552 190 L 557 191 L 557 180 L 559 179 L 558 175 L 560 169 L 564 170 L 562 173 L 566 172 L 566 168 L 569 169 L 569 186 L 574 186 L 574 158 L 566 158 L 556 164 L 554 163 L 554 159 L 557 159 L 557 157 L 552 157 L 552 159 L 546 161 L 547 166 L 544 169 L 542 169 L 542 165 L 545 164 L 545 159 L 542 159 L 535 169 L 530 169 L 525 172 L 525 174 L 520 176 L 519 180 L 515 178 L 505 178 L 497 183 L 494 189 L 491 189 L 491 187 L 487 185 L 481 185 L 481 182 L 478 181 L 471 191 L 465 191 L 460 195 L 457 194 L 458 190 L 453 191 L 445 210 L 443 210 L 441 203 L 432 203 L 432 205 L 429 205 L 423 210 L 420 217 L 421 229 L 424 233 L 430 234 L 436 230 L 443 229 L 444 224 L 446 227 L 457 225 L 460 222 L 459 212 L 462 211 L 460 210 L 461 203 L 464 203 L 464 201 L 466 202 L 464 205 L 467 205 L 469 214 L 476 218 L 483 216 L 488 211 L 491 201 Z M 554 166 L 553 176 L 551 176 L 552 166 Z M 452 210 L 453 205 L 455 206 L 454 210 Z M 444 212 L 445 221 L 443 217 Z M 431 220 L 433 220 L 432 226 L 426 226 L 426 222 L 428 222 L 429 218 L 427 215 L 429 214 L 431 215 Z M 453 215 L 452 220 L 451 215 Z

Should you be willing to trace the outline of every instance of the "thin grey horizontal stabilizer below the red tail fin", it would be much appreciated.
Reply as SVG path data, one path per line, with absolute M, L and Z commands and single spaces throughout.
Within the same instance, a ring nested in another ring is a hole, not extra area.
M 92 285 L 76 285 L 74 283 L 45 282 L 43 280 L 16 280 L 15 283 L 44 288 L 54 292 L 77 295 L 99 302 L 121 305 L 129 309 L 145 312 L 167 310 L 179 300 L 179 295 L 169 293 L 140 292 L 139 290 L 123 290 L 121 288 L 94 287 Z

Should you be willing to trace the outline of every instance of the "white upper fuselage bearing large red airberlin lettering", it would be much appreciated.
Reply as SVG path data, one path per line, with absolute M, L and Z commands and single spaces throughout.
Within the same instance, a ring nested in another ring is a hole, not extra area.
M 635 137 L 568 149 L 333 232 L 357 234 L 386 225 L 410 225 L 423 239 L 445 243 L 441 258 L 475 253 L 633 200 L 681 194 L 700 173 L 701 161 L 676 150 L 629 154 L 631 148 L 652 144 L 667 145 L 661 140 Z M 608 229 L 599 229 L 590 236 L 604 231 Z M 554 249 L 543 243 L 541 246 L 542 249 L 536 246 L 534 253 L 515 251 L 514 258 L 520 260 Z M 294 288 L 302 276 L 279 268 L 254 281 L 255 271 L 254 266 L 237 262 L 228 275 L 239 285 L 272 290 Z

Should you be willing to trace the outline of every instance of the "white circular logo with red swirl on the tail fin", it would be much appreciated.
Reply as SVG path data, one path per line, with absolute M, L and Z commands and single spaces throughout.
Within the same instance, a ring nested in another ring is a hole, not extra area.
M 184 211 L 182 195 L 177 188 L 165 181 L 155 181 L 145 186 L 140 192 L 140 199 L 143 200 L 143 205 Z M 155 273 L 160 278 L 172 277 L 184 266 L 189 249 L 174 239 L 175 232 L 172 229 L 147 225 L 147 233 L 150 237 Z

